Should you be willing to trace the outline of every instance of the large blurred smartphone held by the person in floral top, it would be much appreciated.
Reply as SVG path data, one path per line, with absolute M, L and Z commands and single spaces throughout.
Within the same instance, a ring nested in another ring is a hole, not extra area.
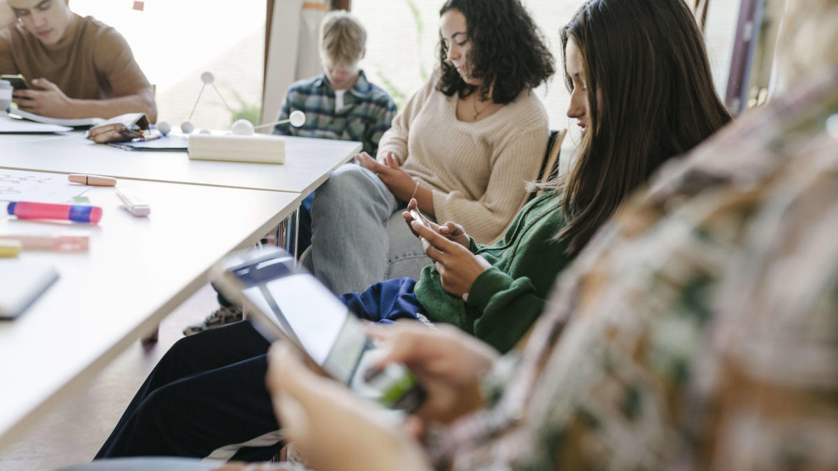
M 210 271 L 216 287 L 241 303 L 269 341 L 287 340 L 308 362 L 359 396 L 391 409 L 413 411 L 425 390 L 403 365 L 375 368 L 381 350 L 364 325 L 317 278 L 277 247 L 236 252 Z

